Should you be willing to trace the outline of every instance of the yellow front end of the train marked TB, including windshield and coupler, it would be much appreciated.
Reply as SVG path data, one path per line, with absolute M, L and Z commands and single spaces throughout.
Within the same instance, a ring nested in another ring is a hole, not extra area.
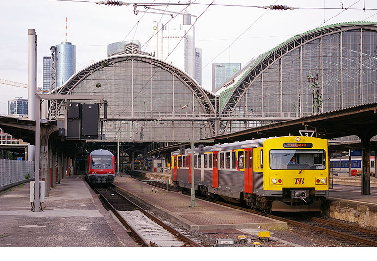
M 281 191 L 272 211 L 320 211 L 329 188 L 327 140 L 277 137 L 266 139 L 260 150 L 262 161 L 254 167 L 262 168 L 264 191 Z

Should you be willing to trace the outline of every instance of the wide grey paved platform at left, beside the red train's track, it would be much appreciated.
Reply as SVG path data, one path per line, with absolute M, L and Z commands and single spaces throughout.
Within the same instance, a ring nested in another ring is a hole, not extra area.
M 0 193 L 0 246 L 137 246 L 76 175 L 49 191 L 31 212 L 29 183 Z

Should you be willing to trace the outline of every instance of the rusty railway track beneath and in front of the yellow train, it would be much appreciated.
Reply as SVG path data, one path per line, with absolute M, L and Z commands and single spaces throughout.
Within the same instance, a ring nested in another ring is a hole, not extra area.
M 162 189 L 164 186 L 161 185 L 154 185 L 158 186 Z M 165 186 L 166 187 L 166 186 Z M 169 190 L 171 190 L 169 188 Z M 242 211 L 247 211 L 251 213 L 255 213 L 258 215 L 266 216 L 269 218 L 281 220 L 284 222 L 287 222 L 288 224 L 292 224 L 295 226 L 301 226 L 310 230 L 315 230 L 321 233 L 325 233 L 327 235 L 331 235 L 337 238 L 341 238 L 344 240 L 347 240 L 349 242 L 352 242 L 353 244 L 355 243 L 360 243 L 364 245 L 370 245 L 370 246 L 377 246 L 377 230 L 373 229 L 368 229 L 368 228 L 363 228 L 359 226 L 353 226 L 353 225 L 347 225 L 343 224 L 341 222 L 336 222 L 336 221 L 330 221 L 327 219 L 322 219 L 322 218 L 316 218 L 316 217 L 310 217 L 310 216 L 303 216 L 300 218 L 300 220 L 294 220 L 291 218 L 284 218 L 281 216 L 276 216 L 276 215 L 271 215 L 271 214 L 265 214 L 259 211 L 255 211 L 252 209 L 248 209 L 242 206 L 237 206 L 234 204 L 230 203 L 225 203 L 222 201 L 215 201 L 215 200 L 210 200 L 208 198 L 200 197 L 196 195 L 196 198 L 200 198 L 203 200 L 211 201 L 220 205 L 224 205 L 227 207 L 239 209 Z

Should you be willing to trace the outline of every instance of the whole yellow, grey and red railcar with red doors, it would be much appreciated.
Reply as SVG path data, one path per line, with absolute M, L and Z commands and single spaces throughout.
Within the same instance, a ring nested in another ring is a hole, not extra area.
M 172 153 L 172 180 L 204 195 L 245 202 L 265 211 L 319 211 L 328 195 L 327 140 L 306 136 L 206 146 Z

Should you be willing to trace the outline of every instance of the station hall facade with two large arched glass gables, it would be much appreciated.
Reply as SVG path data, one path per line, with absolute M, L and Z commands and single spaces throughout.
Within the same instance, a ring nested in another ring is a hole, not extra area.
M 58 93 L 103 94 L 105 140 L 203 139 L 376 102 L 376 43 L 375 22 L 317 28 L 256 57 L 216 93 L 178 67 L 134 52 L 91 64 Z

